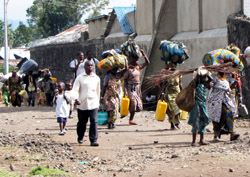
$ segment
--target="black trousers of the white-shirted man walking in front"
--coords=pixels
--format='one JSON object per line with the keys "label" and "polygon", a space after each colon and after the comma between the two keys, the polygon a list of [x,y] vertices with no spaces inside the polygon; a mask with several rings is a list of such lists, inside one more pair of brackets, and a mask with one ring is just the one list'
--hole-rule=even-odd
{"label": "black trousers of the white-shirted man walking in front", "polygon": [[78,123],[76,131],[78,135],[78,141],[82,140],[84,137],[89,118],[90,118],[89,140],[91,143],[97,141],[98,138],[97,112],[98,108],[92,110],[77,109]]}

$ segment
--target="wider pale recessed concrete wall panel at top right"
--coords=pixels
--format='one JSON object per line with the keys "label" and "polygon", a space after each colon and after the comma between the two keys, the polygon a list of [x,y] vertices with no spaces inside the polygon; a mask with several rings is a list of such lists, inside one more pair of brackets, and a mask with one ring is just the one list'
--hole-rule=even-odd
{"label": "wider pale recessed concrete wall panel at top right", "polygon": [[241,10],[241,0],[202,0],[203,29],[227,26],[227,17]]}

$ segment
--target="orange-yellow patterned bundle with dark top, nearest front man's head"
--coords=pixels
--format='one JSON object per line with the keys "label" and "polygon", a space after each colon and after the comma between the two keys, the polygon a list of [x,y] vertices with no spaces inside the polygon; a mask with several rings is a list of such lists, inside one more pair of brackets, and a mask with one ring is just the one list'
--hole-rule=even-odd
{"label": "orange-yellow patterned bundle with dark top, nearest front man's head", "polygon": [[105,51],[103,52],[103,56],[105,56],[106,58],[101,60],[97,65],[101,70],[109,71],[114,68],[125,68],[127,60],[126,56],[116,53],[115,50]]}

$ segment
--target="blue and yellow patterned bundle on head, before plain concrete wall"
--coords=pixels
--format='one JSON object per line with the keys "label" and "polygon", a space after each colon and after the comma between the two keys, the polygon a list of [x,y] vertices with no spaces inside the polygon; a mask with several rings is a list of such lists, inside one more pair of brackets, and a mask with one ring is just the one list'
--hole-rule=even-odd
{"label": "blue and yellow patterned bundle on head, before plain concrete wall", "polygon": [[189,58],[186,46],[178,41],[161,41],[161,60],[168,63],[183,63]]}

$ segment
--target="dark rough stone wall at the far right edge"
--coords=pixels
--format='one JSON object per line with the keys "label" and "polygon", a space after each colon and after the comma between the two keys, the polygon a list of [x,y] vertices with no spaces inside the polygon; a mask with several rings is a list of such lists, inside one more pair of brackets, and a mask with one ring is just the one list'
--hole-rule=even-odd
{"label": "dark rough stone wall at the far right edge", "polygon": [[[244,53],[246,47],[250,46],[250,20],[243,17],[231,15],[228,18],[228,42],[234,43]],[[242,77],[243,102],[250,110],[250,66],[244,62],[244,75]]]}

